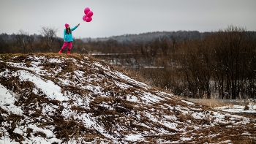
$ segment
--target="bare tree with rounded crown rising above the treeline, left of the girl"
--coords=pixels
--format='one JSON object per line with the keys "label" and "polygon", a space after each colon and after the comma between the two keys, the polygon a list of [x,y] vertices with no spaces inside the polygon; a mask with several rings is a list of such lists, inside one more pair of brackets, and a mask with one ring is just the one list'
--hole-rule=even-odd
{"label": "bare tree with rounded crown rising above the treeline, left of the girl", "polygon": [[45,27],[45,26],[42,26],[42,29],[41,29],[41,34],[42,36],[46,39],[47,41],[47,46],[48,46],[48,52],[51,52],[52,49],[51,49],[51,44],[53,42],[53,38],[54,37],[57,37],[56,36],[56,33],[57,31],[59,31],[58,29],[56,28],[50,28],[50,27]]}

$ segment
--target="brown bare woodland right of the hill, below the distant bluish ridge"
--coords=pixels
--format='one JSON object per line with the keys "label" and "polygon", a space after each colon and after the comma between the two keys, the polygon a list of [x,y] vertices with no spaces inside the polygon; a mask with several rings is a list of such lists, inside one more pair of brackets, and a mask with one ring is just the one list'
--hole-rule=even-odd
{"label": "brown bare woodland right of the hill, below the distant bluish ridge", "polygon": [[[97,58],[138,72],[151,85],[174,94],[192,98],[256,98],[255,31],[228,26],[204,33],[203,37],[192,31],[186,37],[165,35],[129,45],[118,45],[113,39],[104,43],[102,53],[108,55],[99,54]],[[103,45],[94,44],[94,48]],[[116,52],[119,55],[109,54]]]}

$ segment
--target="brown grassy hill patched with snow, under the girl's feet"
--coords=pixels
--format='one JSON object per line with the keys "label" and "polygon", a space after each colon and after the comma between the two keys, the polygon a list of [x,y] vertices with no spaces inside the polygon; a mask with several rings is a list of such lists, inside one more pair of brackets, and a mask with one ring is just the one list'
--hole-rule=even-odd
{"label": "brown grassy hill patched with snow, under the girl's feet", "polygon": [[0,55],[0,143],[255,143],[254,115],[187,102],[82,55]]}

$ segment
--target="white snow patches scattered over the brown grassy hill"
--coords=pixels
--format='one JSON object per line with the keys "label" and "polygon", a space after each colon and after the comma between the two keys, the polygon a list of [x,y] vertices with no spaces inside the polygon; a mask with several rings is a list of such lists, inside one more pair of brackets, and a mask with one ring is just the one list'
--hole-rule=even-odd
{"label": "white snow patches scattered over the brown grassy hill", "polygon": [[[50,99],[56,99],[60,102],[69,100],[68,98],[68,94],[62,94],[61,93],[61,87],[58,86],[57,83],[53,83],[53,81],[51,80],[45,80],[44,77],[42,77],[41,74],[39,74],[39,72],[42,72],[41,67],[37,67],[38,64],[40,63],[40,60],[42,60],[44,57],[36,57],[36,59],[38,61],[34,61],[31,63],[31,65],[33,65],[34,67],[29,67],[27,69],[33,71],[34,73],[28,72],[26,70],[18,70],[17,72],[12,72],[12,76],[18,76],[20,78],[21,81],[31,81],[35,84],[35,86],[37,87],[37,89],[39,89],[40,91],[42,91],[46,96],[48,96],[48,98]],[[54,63],[61,63],[61,61],[57,58],[51,58],[48,62],[54,62]],[[11,63],[8,62],[7,64],[10,64],[14,67],[20,67],[23,68],[25,67],[25,63],[20,62],[19,64],[17,63]],[[100,64],[99,62],[95,62],[94,63],[97,67],[102,67],[105,70],[109,70],[110,67],[104,67],[102,66],[102,64]],[[59,69],[61,70],[61,69]],[[8,70],[1,72],[0,75],[10,75],[10,72]],[[74,72],[75,75],[79,76],[79,77],[83,77],[84,72],[82,71],[75,71]],[[133,83],[136,86],[141,86],[144,88],[151,88],[151,86],[147,86],[145,83],[141,83],[138,82],[136,80],[133,80],[130,77],[127,77],[126,75],[121,74],[121,72],[109,72],[108,75],[111,75],[112,77],[115,78],[122,78],[124,80],[127,80],[127,82],[129,83]],[[95,77],[97,77],[97,75],[95,75]],[[60,83],[64,84],[64,85],[68,85],[69,83],[72,83],[68,80],[63,80],[63,79],[59,79]],[[90,80],[90,79],[87,79]],[[93,80],[93,79],[91,79]],[[116,82],[117,86],[123,88],[123,89],[127,89],[130,86],[126,85],[124,83],[119,83]],[[98,94],[99,96],[106,96],[107,94],[103,93],[101,91],[101,87],[100,86],[81,86],[80,88],[84,88],[86,90],[89,91],[93,91],[94,94]],[[34,90],[35,93],[37,93],[38,91],[35,89]],[[155,94],[151,94],[150,92],[143,92],[140,93],[140,99],[138,99],[137,96],[134,96],[132,94],[127,94],[127,101],[129,102],[140,102],[141,100],[144,102],[144,104],[148,105],[148,104],[154,104],[157,103],[159,101],[165,101],[165,99],[163,99],[160,95],[162,94],[167,94],[165,92],[159,92],[159,95],[155,95]],[[171,95],[171,94],[168,94]],[[73,95],[74,97],[77,95]],[[4,110],[8,110],[12,113],[21,115],[23,113],[22,110],[20,110],[20,107],[15,106],[14,103],[15,101],[17,101],[18,98],[15,96],[14,93],[12,93],[12,91],[7,90],[7,88],[5,88],[4,86],[0,85],[0,107],[3,108]],[[181,100],[181,102],[185,102],[188,105],[194,105],[194,103],[192,102],[187,102],[185,100]],[[83,99],[80,99],[79,97],[77,98],[77,105],[83,105],[84,107],[87,107],[89,105],[89,99],[84,97]],[[64,114],[67,118],[69,118],[69,116],[71,116],[73,113],[70,110],[70,106],[68,105],[68,103],[64,103],[63,106],[65,107],[62,114]],[[108,110],[113,110],[113,107],[110,107],[110,105],[107,105],[105,103],[101,104],[102,107],[107,107]],[[88,107],[87,107],[88,108]],[[165,107],[163,108],[169,108],[170,110],[173,110],[173,107],[165,105]],[[180,105],[177,105],[176,110],[180,110],[182,114],[187,114],[188,112],[188,108],[187,107],[181,107]],[[217,110],[222,110],[224,112],[229,112],[229,113],[256,113],[256,105],[254,105],[252,107],[252,109],[249,110],[244,110],[244,106],[239,106],[239,105],[233,105],[232,107],[230,106],[225,106],[225,107],[216,107]],[[51,111],[54,111],[54,107],[50,107],[48,105],[45,105],[44,108],[42,109],[43,113],[48,113]],[[152,110],[154,111],[154,109]],[[156,112],[157,113],[157,112]],[[214,120],[216,123],[219,121],[222,121],[223,118],[225,118],[225,116],[227,114],[221,114],[218,112],[212,112],[212,115],[216,116],[216,119]],[[231,117],[232,114],[230,114]],[[162,115],[162,118],[157,118],[154,117],[154,115],[152,115],[151,113],[144,113],[144,116],[148,117],[151,119],[151,121],[154,121],[154,123],[159,123],[162,124],[163,126],[166,126],[170,129],[175,129],[178,130],[178,124],[174,123],[173,121],[176,121],[177,118],[175,115]],[[206,116],[208,116],[208,114],[206,113],[192,113],[192,116],[194,118],[205,118]],[[83,120],[83,124],[84,126],[88,126],[91,127],[93,129],[97,129],[98,132],[100,132],[102,135],[104,135],[105,137],[108,137],[110,139],[116,140],[115,137],[113,137],[113,135],[110,135],[108,133],[105,132],[105,129],[102,126],[99,126],[99,124],[96,124],[95,120],[93,118],[91,118],[91,115],[87,114],[87,113],[83,113],[80,115],[81,120]],[[141,115],[137,115],[137,118],[140,119]],[[232,115],[232,117],[230,118],[231,123],[235,123],[236,119],[241,119],[241,116],[238,115]],[[237,124],[239,123],[243,123],[246,124],[248,122],[248,120],[246,118],[242,118],[243,120],[241,122],[237,122]],[[225,121],[223,121],[225,122]],[[5,124],[5,123],[2,123]],[[150,129],[150,126],[146,125],[146,124],[140,124],[141,126],[145,126],[146,128]],[[39,126],[37,126],[36,124],[29,124],[29,126],[27,126],[26,128],[24,127],[16,127],[15,131],[18,134],[23,134],[24,131],[26,131],[26,129],[31,128],[34,130],[34,132],[43,132],[46,134],[46,136],[48,137],[48,139],[42,138],[42,137],[32,137],[31,140],[29,139],[25,139],[23,141],[23,143],[46,143],[46,144],[50,144],[50,143],[61,143],[61,140],[56,139],[55,134],[53,134],[52,129],[42,129]],[[1,131],[2,129],[0,129]],[[167,130],[165,129],[161,129],[159,131],[162,132],[166,132]],[[152,132],[154,132],[154,129],[152,129]],[[144,136],[143,134],[128,134],[126,137],[124,137],[125,140],[129,140],[131,142],[137,142],[137,141],[142,141],[144,140]],[[193,137],[181,137],[181,140],[186,141],[186,140],[192,140]],[[180,142],[180,141],[179,141]],[[17,143],[15,141],[12,141],[9,137],[5,137],[4,135],[2,135],[0,137],[0,144],[9,144],[9,143]],[[71,140],[69,141],[69,143],[77,143],[75,140]],[[170,143],[176,143],[176,142],[170,142]],[[178,142],[177,142],[178,143]],[[222,143],[230,143],[230,140],[225,140],[222,141]]]}

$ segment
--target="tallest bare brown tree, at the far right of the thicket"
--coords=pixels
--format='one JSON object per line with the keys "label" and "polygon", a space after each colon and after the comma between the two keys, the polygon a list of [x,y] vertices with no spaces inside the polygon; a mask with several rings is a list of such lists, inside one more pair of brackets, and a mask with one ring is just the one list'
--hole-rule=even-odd
{"label": "tallest bare brown tree, at the far right of the thicket", "polygon": [[252,67],[253,49],[252,37],[245,29],[229,26],[225,31],[219,31],[215,36],[214,60],[217,61],[217,77],[221,96],[226,99],[240,99],[244,97],[246,83],[249,83],[248,68]]}

